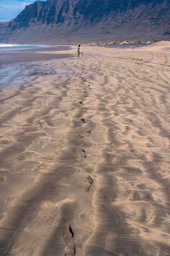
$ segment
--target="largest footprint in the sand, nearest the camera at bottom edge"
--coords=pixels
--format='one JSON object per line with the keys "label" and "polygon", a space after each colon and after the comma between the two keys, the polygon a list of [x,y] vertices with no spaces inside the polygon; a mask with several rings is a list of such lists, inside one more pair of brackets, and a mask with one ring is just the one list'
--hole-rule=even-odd
{"label": "largest footprint in the sand, nearest the camera at bottom edge", "polygon": [[75,255],[75,245],[73,243],[73,231],[71,225],[67,223],[66,229],[62,232],[62,238],[66,247],[64,248],[65,256]]}

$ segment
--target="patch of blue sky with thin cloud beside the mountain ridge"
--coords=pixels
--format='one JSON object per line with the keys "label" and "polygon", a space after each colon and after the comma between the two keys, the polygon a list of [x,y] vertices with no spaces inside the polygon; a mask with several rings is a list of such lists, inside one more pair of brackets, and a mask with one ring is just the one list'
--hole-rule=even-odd
{"label": "patch of blue sky with thin cloud beside the mountain ridge", "polygon": [[0,0],[0,21],[12,20],[26,5],[33,2],[35,2],[35,0]]}

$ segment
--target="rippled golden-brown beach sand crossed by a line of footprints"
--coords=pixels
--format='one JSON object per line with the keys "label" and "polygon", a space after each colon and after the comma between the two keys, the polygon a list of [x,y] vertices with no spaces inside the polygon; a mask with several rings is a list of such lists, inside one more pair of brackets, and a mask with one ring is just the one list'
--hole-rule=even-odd
{"label": "rippled golden-brown beach sand crossed by a line of footprints", "polygon": [[1,256],[170,255],[170,53],[155,47],[82,46],[1,90]]}

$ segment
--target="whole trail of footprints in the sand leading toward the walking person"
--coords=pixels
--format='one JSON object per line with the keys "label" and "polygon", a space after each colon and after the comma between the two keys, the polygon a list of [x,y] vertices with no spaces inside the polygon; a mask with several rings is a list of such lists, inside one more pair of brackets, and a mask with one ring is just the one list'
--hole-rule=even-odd
{"label": "whole trail of footprints in the sand leading toward the walking person", "polygon": [[[84,70],[84,68],[83,68]],[[79,76],[81,78],[81,76]],[[86,82],[86,80],[84,78],[82,78],[84,82]],[[88,83],[91,83],[91,82],[88,82]],[[92,89],[90,87],[91,85],[88,84],[88,89]],[[80,90],[80,92],[82,92]],[[84,91],[84,97],[86,98],[87,97],[87,94],[86,92]],[[83,102],[82,101],[79,101],[79,104],[83,105]],[[87,111],[87,108],[84,109],[85,111]],[[79,113],[82,113],[82,111],[79,111]],[[80,118],[79,121],[84,124],[85,123],[85,120],[84,118]],[[91,131],[88,130],[86,131],[86,135],[82,136],[82,135],[79,135],[80,138],[83,138],[83,137],[87,137],[87,136],[90,136],[91,135]],[[79,154],[80,154],[80,157],[81,158],[86,158],[86,154],[85,154],[85,150],[83,148],[81,148],[79,150]],[[93,179],[91,178],[90,175],[88,175],[86,177],[86,179],[84,180],[85,184],[84,184],[84,191],[85,192],[88,192],[91,188],[91,185],[93,184]],[[65,256],[73,256],[75,255],[75,243],[74,243],[74,240],[73,240],[73,231],[72,231],[72,228],[71,228],[71,225],[69,223],[67,223],[66,225],[66,229],[62,232],[62,238],[64,240],[64,243],[66,245],[66,247],[64,248],[64,255]]]}

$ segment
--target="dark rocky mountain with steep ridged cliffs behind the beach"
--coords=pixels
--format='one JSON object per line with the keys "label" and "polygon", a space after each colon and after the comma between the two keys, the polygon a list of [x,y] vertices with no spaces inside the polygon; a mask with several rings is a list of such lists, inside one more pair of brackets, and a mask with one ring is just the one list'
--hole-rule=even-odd
{"label": "dark rocky mountain with steep ridged cliffs behind the beach", "polygon": [[2,43],[152,39],[170,29],[170,0],[47,0],[0,22]]}

